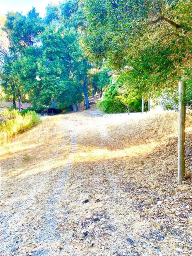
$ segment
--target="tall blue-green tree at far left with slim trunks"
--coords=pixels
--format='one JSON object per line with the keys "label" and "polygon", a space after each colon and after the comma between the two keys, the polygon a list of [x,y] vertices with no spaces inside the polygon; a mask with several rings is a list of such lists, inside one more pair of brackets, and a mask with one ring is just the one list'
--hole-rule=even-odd
{"label": "tall blue-green tree at far left with slim trunks", "polygon": [[[2,86],[7,93],[12,95],[13,104],[16,106],[16,98],[21,109],[22,96],[24,92],[24,79],[20,69],[25,62],[25,50],[28,46],[33,46],[36,37],[44,29],[42,19],[32,8],[27,16],[20,13],[8,12],[3,31],[9,40],[8,51],[4,54],[2,66]],[[21,69],[24,71],[24,69]],[[24,75],[25,76],[25,75]]]}

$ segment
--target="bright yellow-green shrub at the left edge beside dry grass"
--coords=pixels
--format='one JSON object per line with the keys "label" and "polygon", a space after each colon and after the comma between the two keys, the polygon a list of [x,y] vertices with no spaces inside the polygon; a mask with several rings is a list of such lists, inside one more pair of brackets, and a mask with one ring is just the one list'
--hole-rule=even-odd
{"label": "bright yellow-green shrub at the left edge beside dry grass", "polygon": [[28,111],[22,115],[18,110],[5,109],[0,116],[7,119],[0,124],[1,144],[10,141],[16,134],[29,130],[41,122],[40,116],[34,111]]}

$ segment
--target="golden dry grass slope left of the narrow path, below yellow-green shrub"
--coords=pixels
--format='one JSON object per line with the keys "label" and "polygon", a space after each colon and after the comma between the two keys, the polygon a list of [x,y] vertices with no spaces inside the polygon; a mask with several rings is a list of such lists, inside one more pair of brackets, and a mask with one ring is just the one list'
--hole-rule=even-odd
{"label": "golden dry grass slope left of the narrow path, below yellow-green shrub", "polygon": [[36,174],[46,175],[63,165],[71,147],[70,132],[63,119],[63,116],[43,117],[41,124],[1,147],[0,167],[2,181],[7,183],[6,194],[9,189],[18,189],[25,178],[28,182]]}

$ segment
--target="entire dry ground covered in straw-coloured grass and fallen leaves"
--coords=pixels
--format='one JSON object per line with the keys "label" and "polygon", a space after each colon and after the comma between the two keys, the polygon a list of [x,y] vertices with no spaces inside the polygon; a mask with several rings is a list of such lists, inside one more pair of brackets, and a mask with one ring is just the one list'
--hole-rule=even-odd
{"label": "entire dry ground covered in straw-coloured grass and fallen leaves", "polygon": [[[44,117],[2,147],[0,256],[192,255],[177,116]],[[191,173],[192,122],[187,122]]]}

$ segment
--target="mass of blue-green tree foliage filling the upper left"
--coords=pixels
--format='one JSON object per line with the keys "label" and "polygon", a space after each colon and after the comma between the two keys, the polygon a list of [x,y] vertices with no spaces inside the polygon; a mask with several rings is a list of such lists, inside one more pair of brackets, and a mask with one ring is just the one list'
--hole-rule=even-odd
{"label": "mass of blue-green tree foliage filling the upper left", "polygon": [[[2,86],[13,100],[28,97],[40,110],[47,106],[68,108],[86,99],[88,70],[81,36],[85,14],[79,0],[49,4],[42,20],[33,8],[27,16],[9,12],[4,31],[9,40],[4,56]],[[102,85],[100,84],[100,90]]]}

